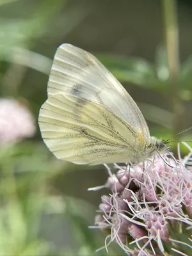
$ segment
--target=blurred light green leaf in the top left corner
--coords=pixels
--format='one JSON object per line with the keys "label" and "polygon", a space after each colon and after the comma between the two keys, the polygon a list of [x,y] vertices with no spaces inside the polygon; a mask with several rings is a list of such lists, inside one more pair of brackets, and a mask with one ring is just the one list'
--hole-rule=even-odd
{"label": "blurred light green leaf in the top left corner", "polygon": [[[42,37],[48,30],[52,17],[63,5],[62,0],[39,1],[28,19],[0,19],[0,59],[10,60],[15,47],[27,48],[34,39]],[[0,5],[1,6],[1,5]]]}

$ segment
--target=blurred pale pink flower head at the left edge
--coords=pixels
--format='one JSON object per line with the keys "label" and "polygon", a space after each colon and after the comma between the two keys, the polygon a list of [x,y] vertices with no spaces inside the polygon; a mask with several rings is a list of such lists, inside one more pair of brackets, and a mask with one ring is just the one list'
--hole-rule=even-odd
{"label": "blurred pale pink flower head at the left edge", "polygon": [[35,134],[35,120],[26,106],[0,98],[0,145],[15,143]]}

